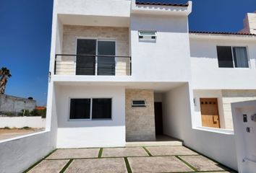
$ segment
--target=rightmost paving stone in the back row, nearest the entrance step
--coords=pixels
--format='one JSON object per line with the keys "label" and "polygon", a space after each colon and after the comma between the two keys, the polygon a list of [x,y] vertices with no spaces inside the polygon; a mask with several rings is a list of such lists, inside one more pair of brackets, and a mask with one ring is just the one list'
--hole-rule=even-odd
{"label": "rightmost paving stone in the back row, nearest the entrance step", "polygon": [[197,153],[184,146],[151,146],[146,148],[153,156],[197,155]]}

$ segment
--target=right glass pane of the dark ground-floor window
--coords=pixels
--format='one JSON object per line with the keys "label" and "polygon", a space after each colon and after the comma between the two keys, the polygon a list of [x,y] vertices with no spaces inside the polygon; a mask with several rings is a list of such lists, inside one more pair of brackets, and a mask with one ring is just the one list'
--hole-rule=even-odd
{"label": "right glass pane of the dark ground-floor window", "polygon": [[112,99],[93,99],[93,119],[111,118]]}

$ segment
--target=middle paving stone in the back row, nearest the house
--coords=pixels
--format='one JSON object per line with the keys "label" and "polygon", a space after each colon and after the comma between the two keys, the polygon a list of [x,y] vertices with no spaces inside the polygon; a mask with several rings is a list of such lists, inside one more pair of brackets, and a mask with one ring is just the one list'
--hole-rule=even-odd
{"label": "middle paving stone in the back row, nearest the house", "polygon": [[148,156],[142,147],[103,148],[102,157]]}

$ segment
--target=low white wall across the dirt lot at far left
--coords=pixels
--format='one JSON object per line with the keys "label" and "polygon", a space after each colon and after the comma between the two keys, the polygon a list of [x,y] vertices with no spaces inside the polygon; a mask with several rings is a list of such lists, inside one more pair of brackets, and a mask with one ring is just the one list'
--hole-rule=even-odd
{"label": "low white wall across the dirt lot at far left", "polygon": [[42,117],[0,117],[0,128],[45,128],[46,119]]}

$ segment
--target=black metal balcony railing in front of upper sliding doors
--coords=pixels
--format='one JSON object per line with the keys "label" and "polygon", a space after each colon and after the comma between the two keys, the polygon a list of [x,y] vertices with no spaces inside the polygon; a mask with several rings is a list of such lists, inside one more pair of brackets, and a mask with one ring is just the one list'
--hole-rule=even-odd
{"label": "black metal balcony railing in front of upper sliding doors", "polygon": [[95,56],[56,54],[56,75],[131,76],[130,56]]}

